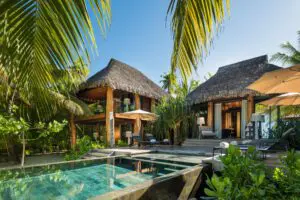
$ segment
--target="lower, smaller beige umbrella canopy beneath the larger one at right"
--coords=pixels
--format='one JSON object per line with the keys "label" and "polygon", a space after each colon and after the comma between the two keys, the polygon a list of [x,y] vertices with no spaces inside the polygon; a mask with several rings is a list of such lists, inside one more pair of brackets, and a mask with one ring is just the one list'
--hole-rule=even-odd
{"label": "lower, smaller beige umbrella canopy beneath the larger one at right", "polygon": [[296,106],[300,105],[300,93],[287,93],[272,99],[262,101],[259,104],[266,106]]}

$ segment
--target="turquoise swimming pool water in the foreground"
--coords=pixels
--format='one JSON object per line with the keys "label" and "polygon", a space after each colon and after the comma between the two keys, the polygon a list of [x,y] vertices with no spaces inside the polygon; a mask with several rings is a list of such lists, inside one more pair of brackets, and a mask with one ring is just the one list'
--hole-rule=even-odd
{"label": "turquoise swimming pool water in the foreground", "polygon": [[115,157],[0,171],[0,199],[88,199],[190,165]]}

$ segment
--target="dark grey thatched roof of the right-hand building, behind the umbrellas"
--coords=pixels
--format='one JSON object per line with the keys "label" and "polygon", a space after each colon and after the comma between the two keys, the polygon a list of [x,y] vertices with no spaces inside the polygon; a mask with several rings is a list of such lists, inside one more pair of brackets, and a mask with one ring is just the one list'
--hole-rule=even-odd
{"label": "dark grey thatched roof of the right-hand building, behind the umbrellas", "polygon": [[192,104],[261,95],[247,86],[264,73],[280,67],[269,64],[267,55],[220,67],[217,73],[187,96]]}

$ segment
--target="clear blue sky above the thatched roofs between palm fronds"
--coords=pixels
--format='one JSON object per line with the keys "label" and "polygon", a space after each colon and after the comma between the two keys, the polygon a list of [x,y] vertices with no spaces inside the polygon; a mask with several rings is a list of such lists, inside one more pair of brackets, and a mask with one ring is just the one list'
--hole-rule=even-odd
{"label": "clear blue sky above the thatched roofs between palm fronds", "polygon": [[[105,38],[95,29],[98,56],[92,58],[90,75],[115,58],[160,84],[161,74],[170,69],[173,48],[166,22],[169,0],[111,2],[112,22]],[[204,81],[221,66],[265,54],[270,58],[286,41],[298,47],[299,8],[300,0],[231,0],[230,15],[193,78]]]}

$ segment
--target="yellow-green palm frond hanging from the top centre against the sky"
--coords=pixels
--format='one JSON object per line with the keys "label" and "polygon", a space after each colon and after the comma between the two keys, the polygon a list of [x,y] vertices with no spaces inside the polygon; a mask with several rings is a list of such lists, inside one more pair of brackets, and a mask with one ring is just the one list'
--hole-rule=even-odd
{"label": "yellow-green palm frond hanging from the top centre against the sky", "polygon": [[[226,5],[227,8],[224,8]],[[171,72],[179,69],[186,82],[207,54],[211,41],[229,11],[229,0],[171,0],[173,53]]]}

